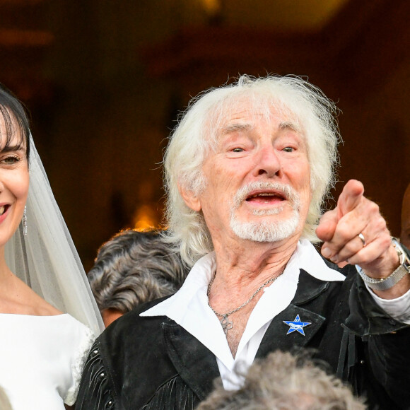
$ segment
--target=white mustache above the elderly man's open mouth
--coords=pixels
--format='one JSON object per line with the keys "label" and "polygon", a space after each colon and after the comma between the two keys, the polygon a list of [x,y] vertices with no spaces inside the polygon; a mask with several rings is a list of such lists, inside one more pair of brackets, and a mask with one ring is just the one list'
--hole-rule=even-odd
{"label": "white mustache above the elderly man's open mouth", "polygon": [[238,189],[236,192],[235,197],[233,199],[233,207],[234,209],[238,209],[240,204],[242,204],[245,199],[249,196],[252,191],[258,190],[273,190],[274,192],[278,192],[281,194],[285,199],[287,199],[290,203],[292,208],[295,211],[298,211],[300,208],[300,199],[298,192],[293,189],[290,185],[281,184],[280,182],[268,182],[268,181],[256,181],[251,182],[244,187]]}

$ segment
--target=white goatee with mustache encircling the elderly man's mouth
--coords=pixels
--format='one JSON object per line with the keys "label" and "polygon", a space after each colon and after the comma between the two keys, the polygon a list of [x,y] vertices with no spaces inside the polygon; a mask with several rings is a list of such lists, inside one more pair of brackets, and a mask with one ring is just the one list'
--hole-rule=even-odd
{"label": "white goatee with mustache encircling the elderly man's mouth", "polygon": [[[279,221],[261,221],[242,222],[238,221],[235,215],[236,209],[247,198],[248,194],[257,189],[274,189],[282,192],[286,199],[291,203],[293,212],[289,218]],[[252,240],[254,242],[277,242],[289,238],[298,228],[300,215],[300,200],[299,195],[295,190],[288,185],[279,184],[278,182],[253,182],[246,187],[238,190],[233,201],[233,208],[230,211],[230,228],[235,235],[241,239]],[[272,209],[255,209],[254,215],[268,216],[283,212],[283,207]]]}

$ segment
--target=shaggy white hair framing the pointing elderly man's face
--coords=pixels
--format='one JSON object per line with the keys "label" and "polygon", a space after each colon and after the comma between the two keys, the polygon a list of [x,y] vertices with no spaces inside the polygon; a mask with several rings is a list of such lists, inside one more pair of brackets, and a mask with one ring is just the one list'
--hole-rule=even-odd
{"label": "shaggy white hair framing the pointing elderly man's face", "polygon": [[203,213],[187,206],[181,191],[199,194],[206,187],[204,161],[216,149],[225,117],[242,106],[248,114],[266,119],[272,112],[283,115],[304,136],[312,201],[302,238],[317,241],[315,228],[324,198],[334,185],[338,160],[336,107],[319,88],[296,76],[241,76],[236,83],[205,91],[192,100],[165,154],[168,240],[189,266],[211,252],[213,244]]}

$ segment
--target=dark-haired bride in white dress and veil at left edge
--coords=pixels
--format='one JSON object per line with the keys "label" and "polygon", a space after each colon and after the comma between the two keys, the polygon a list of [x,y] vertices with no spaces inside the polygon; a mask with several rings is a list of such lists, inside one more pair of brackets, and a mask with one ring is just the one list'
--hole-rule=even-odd
{"label": "dark-haired bride in white dress and veil at left edge", "polygon": [[0,85],[0,386],[12,409],[70,408],[101,330],[25,111]]}

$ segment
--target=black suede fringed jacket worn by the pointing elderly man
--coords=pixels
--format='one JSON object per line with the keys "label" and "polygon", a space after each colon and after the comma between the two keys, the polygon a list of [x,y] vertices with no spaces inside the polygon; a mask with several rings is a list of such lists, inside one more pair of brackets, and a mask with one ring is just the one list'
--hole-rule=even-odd
{"label": "black suede fringed jacket worn by the pointing elderly man", "polygon": [[[295,297],[272,320],[257,358],[313,348],[367,397],[370,410],[410,409],[410,327],[378,307],[353,266],[341,272],[345,281],[327,282],[300,270]],[[141,305],[100,335],[76,410],[191,410],[211,392],[219,377],[213,353],[168,317],[139,316],[159,302]],[[282,321],[298,314],[312,323],[309,334],[286,335]]]}

